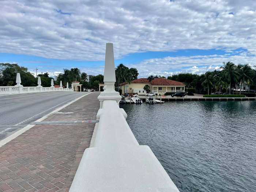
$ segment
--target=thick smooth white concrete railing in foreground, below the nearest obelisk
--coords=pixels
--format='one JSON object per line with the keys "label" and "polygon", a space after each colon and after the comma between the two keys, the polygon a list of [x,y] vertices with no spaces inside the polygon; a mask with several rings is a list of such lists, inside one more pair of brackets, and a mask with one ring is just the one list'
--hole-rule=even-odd
{"label": "thick smooth white concrete railing in foreground, below the nearest obelisk", "polygon": [[178,192],[148,146],[140,146],[116,101],[99,109],[94,146],[84,151],[69,192]]}

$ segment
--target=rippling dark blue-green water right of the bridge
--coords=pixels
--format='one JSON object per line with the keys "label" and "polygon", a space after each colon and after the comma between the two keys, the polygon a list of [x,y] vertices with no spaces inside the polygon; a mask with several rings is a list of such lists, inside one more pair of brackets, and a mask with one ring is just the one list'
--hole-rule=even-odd
{"label": "rippling dark blue-green water right of the bridge", "polygon": [[256,101],[120,105],[181,192],[256,191]]}

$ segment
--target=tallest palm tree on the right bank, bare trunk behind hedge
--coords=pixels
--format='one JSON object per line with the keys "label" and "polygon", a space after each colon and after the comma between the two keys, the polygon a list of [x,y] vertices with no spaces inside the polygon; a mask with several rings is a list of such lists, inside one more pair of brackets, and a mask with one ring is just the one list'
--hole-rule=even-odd
{"label": "tallest palm tree on the right bank, bare trunk behind hedge", "polygon": [[224,69],[224,74],[226,79],[229,82],[229,94],[231,94],[231,83],[237,82],[237,78],[238,78],[238,72],[236,71],[236,65],[232,62],[223,62],[224,67],[220,67],[221,69]]}

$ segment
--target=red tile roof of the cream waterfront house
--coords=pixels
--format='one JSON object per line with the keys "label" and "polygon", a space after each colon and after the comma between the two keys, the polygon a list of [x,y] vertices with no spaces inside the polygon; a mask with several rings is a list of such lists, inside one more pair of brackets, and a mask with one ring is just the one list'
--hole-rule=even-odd
{"label": "red tile roof of the cream waterfront house", "polygon": [[[155,78],[151,82],[149,82],[147,78],[140,78],[140,79],[136,79],[136,80],[131,81],[131,83],[150,83],[151,85],[185,86],[184,83],[174,81],[174,80],[165,79],[165,78]],[[124,85],[124,84],[127,84],[127,83],[121,83],[121,85]]]}

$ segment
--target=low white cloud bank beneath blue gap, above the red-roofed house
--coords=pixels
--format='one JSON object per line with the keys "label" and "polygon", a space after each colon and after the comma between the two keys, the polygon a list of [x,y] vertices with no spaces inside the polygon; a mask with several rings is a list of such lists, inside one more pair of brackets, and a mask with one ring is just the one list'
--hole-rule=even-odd
{"label": "low white cloud bank beneath blue gap, above the red-roofed house", "polygon": [[[181,72],[202,74],[206,71],[219,70],[223,62],[249,64],[253,67],[256,56],[248,57],[245,52],[238,55],[209,55],[209,56],[178,56],[143,60],[138,64],[127,64],[127,67],[137,68],[139,77],[149,75],[169,76]],[[154,71],[152,73],[152,71]]]}

